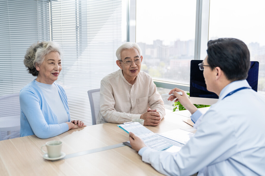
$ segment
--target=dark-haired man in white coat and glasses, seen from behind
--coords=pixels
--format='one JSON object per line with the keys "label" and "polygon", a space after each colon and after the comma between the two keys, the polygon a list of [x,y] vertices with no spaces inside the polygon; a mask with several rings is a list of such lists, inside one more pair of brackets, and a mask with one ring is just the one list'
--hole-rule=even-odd
{"label": "dark-haired man in white coat and glasses, seen from behind", "polygon": [[130,133],[133,149],[139,151],[143,161],[166,175],[192,175],[198,171],[198,175],[264,175],[265,99],[245,80],[250,68],[247,46],[238,39],[211,40],[199,67],[207,90],[219,96],[218,102],[201,115],[180,89],[171,90],[174,96],[168,99],[178,98],[197,116],[194,121],[200,117],[196,134],[178,153],[169,153],[145,147],[139,137]]}

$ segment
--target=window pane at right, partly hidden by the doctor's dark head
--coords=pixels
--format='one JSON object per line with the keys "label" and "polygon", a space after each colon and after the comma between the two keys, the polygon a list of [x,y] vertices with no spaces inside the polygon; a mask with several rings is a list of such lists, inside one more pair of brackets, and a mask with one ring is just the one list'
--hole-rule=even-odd
{"label": "window pane at right, partly hidden by the doctor's dark head", "polygon": [[265,2],[259,0],[212,0],[209,14],[209,40],[221,37],[240,39],[249,48],[250,60],[259,61],[260,93],[265,91],[264,6]]}

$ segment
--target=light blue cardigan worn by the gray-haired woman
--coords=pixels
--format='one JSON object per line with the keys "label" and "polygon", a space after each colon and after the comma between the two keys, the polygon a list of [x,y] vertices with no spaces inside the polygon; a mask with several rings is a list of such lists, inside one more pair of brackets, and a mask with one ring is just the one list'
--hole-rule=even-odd
{"label": "light blue cardigan worn by the gray-haired woman", "polygon": [[[63,87],[55,83],[70,122],[67,96]],[[35,79],[23,87],[19,93],[20,101],[20,137],[36,135],[46,139],[69,130],[67,123],[58,124],[58,119],[47,103]]]}

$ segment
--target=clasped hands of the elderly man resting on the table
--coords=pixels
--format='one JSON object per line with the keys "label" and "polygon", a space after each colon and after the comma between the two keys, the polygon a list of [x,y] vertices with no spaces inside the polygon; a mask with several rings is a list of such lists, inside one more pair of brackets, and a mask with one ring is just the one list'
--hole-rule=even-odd
{"label": "clasped hands of the elderly man resting on the table", "polygon": [[157,126],[161,121],[159,112],[151,110],[150,108],[148,108],[147,112],[143,113],[140,118],[144,119],[144,125],[149,126]]}

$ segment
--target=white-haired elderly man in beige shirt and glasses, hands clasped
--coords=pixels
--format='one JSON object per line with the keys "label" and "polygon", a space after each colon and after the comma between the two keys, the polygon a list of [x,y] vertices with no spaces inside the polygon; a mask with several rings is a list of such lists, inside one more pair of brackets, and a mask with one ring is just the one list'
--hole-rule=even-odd
{"label": "white-haired elderly man in beige shirt and glasses, hands clasped", "polygon": [[165,116],[165,106],[150,75],[140,71],[143,61],[140,47],[126,42],[117,49],[116,56],[120,70],[101,80],[97,124],[142,118],[144,125],[158,125]]}

